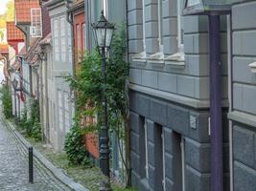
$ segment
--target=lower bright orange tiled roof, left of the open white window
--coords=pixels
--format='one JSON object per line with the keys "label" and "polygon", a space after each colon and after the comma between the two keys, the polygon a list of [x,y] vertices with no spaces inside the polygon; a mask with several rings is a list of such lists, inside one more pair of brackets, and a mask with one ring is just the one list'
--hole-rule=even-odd
{"label": "lower bright orange tiled roof, left of the open white window", "polygon": [[7,22],[7,41],[24,41],[24,33],[21,32],[14,22]]}

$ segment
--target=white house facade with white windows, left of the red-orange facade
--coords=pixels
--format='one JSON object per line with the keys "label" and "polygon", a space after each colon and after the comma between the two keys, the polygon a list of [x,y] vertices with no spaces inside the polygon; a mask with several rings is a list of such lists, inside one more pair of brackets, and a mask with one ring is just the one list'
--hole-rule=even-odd
{"label": "white house facade with white windows, left of the red-orange facade", "polygon": [[48,68],[50,142],[61,151],[74,115],[72,93],[65,80],[65,76],[73,75],[71,25],[66,19],[67,7],[64,1],[51,0],[44,6],[50,15],[53,43]]}

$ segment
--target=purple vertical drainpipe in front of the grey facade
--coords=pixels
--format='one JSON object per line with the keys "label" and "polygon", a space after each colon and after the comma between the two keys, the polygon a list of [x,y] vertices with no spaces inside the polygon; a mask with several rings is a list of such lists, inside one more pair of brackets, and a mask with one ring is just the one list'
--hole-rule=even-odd
{"label": "purple vertical drainpipe in front of the grey facade", "polygon": [[220,15],[209,15],[211,191],[223,190]]}

